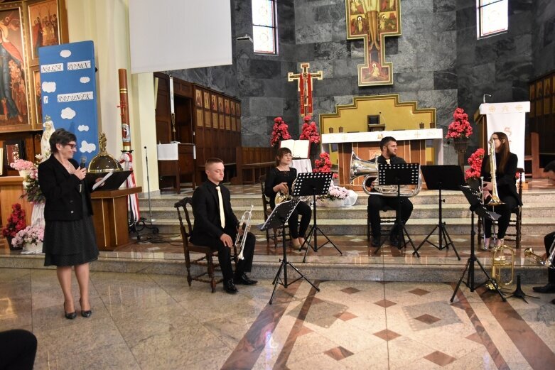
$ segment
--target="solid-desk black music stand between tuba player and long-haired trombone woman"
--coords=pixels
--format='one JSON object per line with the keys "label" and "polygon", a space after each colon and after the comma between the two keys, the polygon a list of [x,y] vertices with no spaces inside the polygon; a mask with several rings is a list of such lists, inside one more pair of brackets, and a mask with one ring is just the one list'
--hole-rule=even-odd
{"label": "solid-desk black music stand between tuba player and long-haired trombone woman", "polygon": [[[449,249],[449,246],[453,246],[453,251],[455,251],[457,258],[460,261],[460,256],[457,253],[455,244],[453,244],[453,240],[447,232],[446,223],[443,222],[442,203],[445,202],[445,200],[441,197],[441,190],[460,190],[460,186],[465,185],[463,170],[460,169],[459,165],[423,165],[420,169],[422,170],[424,180],[426,180],[426,187],[428,187],[428,190],[439,190],[439,222],[435,227],[433,227],[430,234],[424,238],[418,248],[416,248],[416,251],[418,251],[426,242],[436,247],[439,251]],[[438,245],[429,241],[429,237],[436,231],[436,229],[438,229]],[[443,245],[443,241],[445,241],[445,245]]]}

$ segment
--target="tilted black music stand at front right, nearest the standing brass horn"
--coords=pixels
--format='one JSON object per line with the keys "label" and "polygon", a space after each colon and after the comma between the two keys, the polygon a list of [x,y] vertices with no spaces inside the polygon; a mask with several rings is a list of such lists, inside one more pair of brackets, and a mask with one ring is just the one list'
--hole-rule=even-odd
{"label": "tilted black music stand at front right, nearest the standing brass horn", "polygon": [[[468,203],[470,203],[470,212],[472,212],[472,217],[470,221],[470,229],[471,229],[470,257],[466,262],[466,266],[463,271],[463,274],[460,276],[460,279],[458,279],[457,286],[455,288],[455,291],[453,292],[453,296],[451,297],[451,302],[453,302],[453,300],[455,299],[455,295],[457,294],[457,290],[460,287],[460,283],[465,283],[465,285],[468,286],[468,288],[470,288],[470,291],[473,292],[476,288],[480,288],[480,286],[488,282],[491,283],[491,285],[495,288],[495,290],[497,290],[497,293],[499,294],[501,299],[505,302],[507,300],[505,298],[505,295],[501,293],[501,290],[499,290],[499,288],[497,287],[497,283],[487,274],[487,271],[485,271],[485,268],[484,266],[482,266],[482,263],[480,263],[480,261],[476,258],[475,250],[474,250],[474,236],[476,235],[476,232],[474,230],[474,214],[478,214],[478,216],[482,217],[483,219],[487,218],[487,219],[490,219],[491,221],[495,221],[499,219],[500,214],[490,212],[484,207],[481,196],[480,194],[478,194],[478,191],[473,190],[468,186],[461,186],[460,190],[463,190],[463,194],[465,195],[466,200],[468,200]],[[480,266],[480,269],[482,270],[485,277],[487,278],[486,281],[478,285],[475,285],[474,263],[478,263],[478,266]],[[466,274],[468,274],[466,281],[463,281],[463,278],[465,277]]]}

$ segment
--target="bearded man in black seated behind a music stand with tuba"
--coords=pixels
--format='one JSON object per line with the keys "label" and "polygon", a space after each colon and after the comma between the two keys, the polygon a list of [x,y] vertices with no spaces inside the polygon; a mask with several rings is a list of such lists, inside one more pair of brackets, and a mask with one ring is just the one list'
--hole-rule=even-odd
{"label": "bearded man in black seated behind a music stand with tuba", "polygon": [[[382,154],[376,158],[378,164],[401,164],[406,163],[401,157],[397,157],[397,141],[392,136],[386,136],[379,141],[379,148]],[[366,184],[363,184],[365,186]],[[372,192],[376,192],[372,190]],[[379,247],[382,245],[382,232],[381,232],[381,218],[379,217],[379,211],[384,210],[385,207],[390,207],[393,210],[397,210],[399,202],[401,203],[401,217],[400,222],[403,224],[411,217],[412,213],[412,202],[408,197],[385,197],[378,195],[372,195],[368,197],[368,219],[370,220],[370,227],[372,229],[372,246]],[[397,193],[395,193],[397,195]],[[397,220],[399,221],[399,220]],[[398,248],[402,246],[402,240],[399,238],[400,230],[396,224],[389,234],[389,240],[393,246]]]}

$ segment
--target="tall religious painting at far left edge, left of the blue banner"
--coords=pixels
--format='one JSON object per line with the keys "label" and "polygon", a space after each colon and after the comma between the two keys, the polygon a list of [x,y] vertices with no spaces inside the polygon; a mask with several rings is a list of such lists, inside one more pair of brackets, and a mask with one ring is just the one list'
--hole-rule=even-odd
{"label": "tall religious painting at far left edge, left of the blue banner", "polygon": [[0,6],[0,19],[0,129],[6,131],[29,124],[27,77],[21,8]]}

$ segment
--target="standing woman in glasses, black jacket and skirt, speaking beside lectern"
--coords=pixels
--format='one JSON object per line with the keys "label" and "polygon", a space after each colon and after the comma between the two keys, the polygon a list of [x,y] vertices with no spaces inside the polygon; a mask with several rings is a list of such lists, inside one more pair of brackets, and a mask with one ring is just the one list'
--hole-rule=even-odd
{"label": "standing woman in glasses, black jacket and skirt, speaking beside lectern", "polygon": [[[46,202],[44,206],[44,266],[57,266],[56,273],[64,295],[65,318],[77,316],[71,295],[71,268],[79,283],[82,317],[90,317],[89,263],[98,259],[92,205],[87,183],[87,169],[73,159],[77,138],[64,129],[50,136],[52,155],[38,166],[38,183]],[[86,159],[85,159],[86,161]],[[100,180],[100,179],[98,179]]]}

